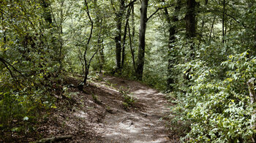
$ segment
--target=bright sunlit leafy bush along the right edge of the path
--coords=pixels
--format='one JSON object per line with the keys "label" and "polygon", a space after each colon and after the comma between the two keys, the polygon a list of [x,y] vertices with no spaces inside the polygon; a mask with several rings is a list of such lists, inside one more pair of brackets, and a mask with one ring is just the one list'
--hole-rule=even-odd
{"label": "bright sunlit leafy bush along the right edge of the path", "polygon": [[[246,51],[229,55],[220,66],[190,62],[191,85],[178,106],[181,119],[192,122],[184,142],[250,142],[255,131],[250,127],[253,105],[249,102],[246,82],[256,77],[256,57]],[[221,69],[225,77],[216,78]],[[174,109],[174,111],[178,111]]]}

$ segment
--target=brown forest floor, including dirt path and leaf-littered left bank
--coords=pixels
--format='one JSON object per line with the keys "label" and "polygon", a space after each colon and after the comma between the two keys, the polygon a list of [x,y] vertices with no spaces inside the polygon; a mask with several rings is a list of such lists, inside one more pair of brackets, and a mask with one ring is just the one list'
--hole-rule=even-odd
{"label": "brown forest floor, including dirt path and leaf-littered left bank", "polygon": [[[75,88],[79,81],[78,77],[67,77],[57,108],[39,120],[33,134],[12,134],[12,139],[34,142],[71,135],[61,142],[179,142],[178,134],[167,128],[171,104],[164,94],[121,77],[99,75],[89,80],[83,91]],[[125,105],[124,93],[135,103]]]}

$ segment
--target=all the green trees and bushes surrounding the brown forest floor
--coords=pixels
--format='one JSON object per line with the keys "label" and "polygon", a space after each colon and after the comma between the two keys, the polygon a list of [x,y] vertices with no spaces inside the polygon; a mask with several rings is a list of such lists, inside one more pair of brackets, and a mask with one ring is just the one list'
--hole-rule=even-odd
{"label": "all the green trees and bushes surrounding the brown forest floor", "polygon": [[97,71],[168,93],[184,142],[254,142],[255,0],[1,0],[0,15],[1,131]]}

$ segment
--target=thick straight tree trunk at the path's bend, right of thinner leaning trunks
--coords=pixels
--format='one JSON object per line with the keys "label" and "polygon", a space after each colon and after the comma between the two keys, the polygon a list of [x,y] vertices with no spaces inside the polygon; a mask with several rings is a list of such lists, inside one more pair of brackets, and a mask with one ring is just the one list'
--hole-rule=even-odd
{"label": "thick straight tree trunk at the path's bend, right of thinner leaning trunks", "polygon": [[146,23],[147,23],[147,9],[148,0],[142,0],[140,8],[140,34],[139,34],[139,47],[138,47],[138,61],[136,68],[136,78],[142,80],[143,77],[143,66],[145,58],[145,34],[146,34]]}

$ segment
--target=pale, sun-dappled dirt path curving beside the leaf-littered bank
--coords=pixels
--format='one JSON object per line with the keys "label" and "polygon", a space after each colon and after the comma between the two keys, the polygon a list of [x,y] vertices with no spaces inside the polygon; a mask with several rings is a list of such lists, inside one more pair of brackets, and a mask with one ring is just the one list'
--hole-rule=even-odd
{"label": "pale, sun-dappled dirt path curving beside the leaf-littered bank", "polygon": [[[175,142],[168,137],[165,120],[162,120],[170,112],[167,99],[162,93],[139,82],[118,77],[103,77],[103,81],[110,82],[116,89],[127,88],[143,107],[128,112],[119,106],[110,106],[113,112],[106,114],[104,127],[100,129],[103,142]],[[118,92],[111,90],[113,93]]]}

